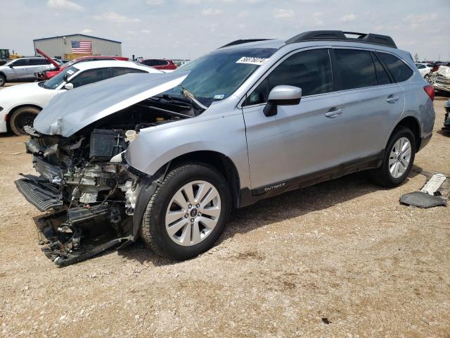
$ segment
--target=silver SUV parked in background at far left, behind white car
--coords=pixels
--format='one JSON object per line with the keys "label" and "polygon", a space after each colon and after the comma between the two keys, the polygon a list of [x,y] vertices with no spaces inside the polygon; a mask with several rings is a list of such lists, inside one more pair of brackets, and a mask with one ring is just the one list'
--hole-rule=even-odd
{"label": "silver SUV parked in background at far left, behind white car", "polygon": [[[56,62],[53,61],[53,63]],[[46,58],[16,58],[0,66],[0,87],[6,82],[34,80],[34,73],[55,68],[56,66]]]}

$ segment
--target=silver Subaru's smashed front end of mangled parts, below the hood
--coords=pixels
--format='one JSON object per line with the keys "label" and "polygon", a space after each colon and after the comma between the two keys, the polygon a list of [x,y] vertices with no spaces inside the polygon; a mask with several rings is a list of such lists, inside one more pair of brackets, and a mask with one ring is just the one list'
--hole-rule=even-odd
{"label": "silver Subaru's smashed front end of mangled parts, below the hood", "polygon": [[124,165],[110,162],[127,147],[123,130],[32,136],[26,146],[38,175],[22,175],[15,184],[39,211],[50,211],[34,218],[47,257],[68,265],[129,238],[132,206],[125,195],[132,180]]}

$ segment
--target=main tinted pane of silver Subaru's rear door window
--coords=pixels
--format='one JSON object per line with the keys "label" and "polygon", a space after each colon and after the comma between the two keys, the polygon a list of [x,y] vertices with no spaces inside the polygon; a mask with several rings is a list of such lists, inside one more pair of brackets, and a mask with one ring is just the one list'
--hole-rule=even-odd
{"label": "main tinted pane of silver Subaru's rear door window", "polygon": [[370,51],[335,49],[335,56],[343,90],[378,84]]}

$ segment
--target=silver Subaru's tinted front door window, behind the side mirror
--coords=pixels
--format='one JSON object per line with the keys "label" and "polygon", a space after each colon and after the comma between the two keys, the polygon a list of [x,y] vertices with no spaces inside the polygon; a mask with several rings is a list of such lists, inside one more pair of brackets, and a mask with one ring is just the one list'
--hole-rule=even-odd
{"label": "silver Subaru's tinted front door window, behind the side mirror", "polygon": [[278,85],[300,87],[302,96],[309,96],[331,92],[332,83],[328,49],[302,51],[280,63],[248,96],[245,104],[266,102],[271,89]]}

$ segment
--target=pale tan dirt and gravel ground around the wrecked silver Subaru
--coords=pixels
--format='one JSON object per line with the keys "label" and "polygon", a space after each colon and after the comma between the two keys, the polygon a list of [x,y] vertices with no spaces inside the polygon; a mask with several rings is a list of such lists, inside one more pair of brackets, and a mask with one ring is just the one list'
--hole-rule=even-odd
{"label": "pale tan dirt and gravel ground around the wrecked silver Subaru", "polygon": [[[446,99],[416,165],[449,174]],[[191,261],[139,243],[56,268],[13,184],[34,171],[25,139],[0,137],[4,337],[450,337],[450,207],[398,202],[423,175],[387,190],[360,173],[262,201]]]}

